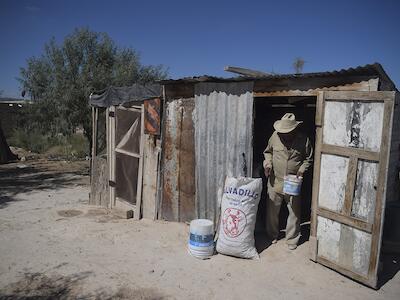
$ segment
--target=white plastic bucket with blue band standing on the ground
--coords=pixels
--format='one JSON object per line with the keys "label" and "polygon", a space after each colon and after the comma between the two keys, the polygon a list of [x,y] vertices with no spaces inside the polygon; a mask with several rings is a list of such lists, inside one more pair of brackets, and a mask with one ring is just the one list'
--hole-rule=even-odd
{"label": "white plastic bucket with blue band standing on the ground", "polygon": [[188,242],[189,253],[200,259],[210,258],[214,254],[214,223],[207,219],[190,222]]}

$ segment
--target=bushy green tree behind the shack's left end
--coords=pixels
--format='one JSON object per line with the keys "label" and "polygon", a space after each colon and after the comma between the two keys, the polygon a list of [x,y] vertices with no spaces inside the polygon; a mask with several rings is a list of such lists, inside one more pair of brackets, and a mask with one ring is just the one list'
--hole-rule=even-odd
{"label": "bushy green tree behind the shack's left end", "polygon": [[41,56],[27,60],[20,75],[22,89],[33,100],[27,129],[55,135],[71,134],[82,126],[90,142],[91,92],[164,79],[167,70],[144,66],[135,50],[118,47],[106,33],[81,28],[61,44],[51,39]]}

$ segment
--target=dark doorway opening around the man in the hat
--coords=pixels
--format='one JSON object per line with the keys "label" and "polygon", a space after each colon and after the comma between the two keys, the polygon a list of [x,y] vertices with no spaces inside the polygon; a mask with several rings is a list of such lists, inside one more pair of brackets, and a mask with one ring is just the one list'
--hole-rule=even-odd
{"label": "dark doorway opening around the man in the hat", "polygon": [[[267,201],[267,180],[263,168],[263,151],[268,144],[268,140],[274,132],[273,124],[280,120],[285,113],[294,113],[296,120],[303,121],[300,130],[310,138],[312,145],[315,145],[315,111],[316,97],[257,97],[254,98],[254,125],[253,125],[253,177],[263,179],[263,191],[258,206],[256,241],[258,240],[258,250],[260,240],[265,240],[266,230],[266,201]],[[301,188],[301,231],[302,238],[300,243],[308,240],[310,234],[311,218],[311,199],[312,199],[312,176],[311,167],[304,175]],[[285,228],[288,211],[285,205],[281,206],[279,217],[279,228]],[[259,236],[259,238],[257,238]],[[265,246],[265,248],[267,245]],[[264,249],[265,249],[264,248]]]}

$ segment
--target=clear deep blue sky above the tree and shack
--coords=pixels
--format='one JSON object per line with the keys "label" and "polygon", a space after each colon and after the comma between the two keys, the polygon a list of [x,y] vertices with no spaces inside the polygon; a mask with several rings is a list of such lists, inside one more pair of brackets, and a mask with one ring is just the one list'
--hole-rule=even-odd
{"label": "clear deep blue sky above the tree and shack", "polygon": [[171,78],[231,76],[224,66],[292,73],[380,62],[400,86],[400,1],[0,0],[0,90],[19,97],[26,59],[77,27],[107,32]]}

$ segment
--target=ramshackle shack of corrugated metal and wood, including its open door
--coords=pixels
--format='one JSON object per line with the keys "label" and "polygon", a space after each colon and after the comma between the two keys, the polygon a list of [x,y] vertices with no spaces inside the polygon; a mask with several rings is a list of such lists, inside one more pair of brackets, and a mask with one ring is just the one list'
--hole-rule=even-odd
{"label": "ramshackle shack of corrugated metal and wood, including its open door", "polygon": [[[383,212],[400,194],[400,98],[381,65],[160,84],[159,94],[107,106],[107,161],[96,172],[94,148],[92,187],[108,199],[94,188],[91,203],[132,207],[135,218],[216,222],[225,177],[262,176],[272,124],[294,112],[315,141],[302,192],[312,259],[376,287]],[[93,116],[97,124],[98,108]]]}

